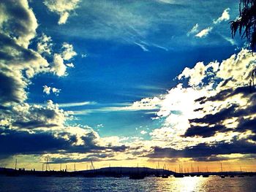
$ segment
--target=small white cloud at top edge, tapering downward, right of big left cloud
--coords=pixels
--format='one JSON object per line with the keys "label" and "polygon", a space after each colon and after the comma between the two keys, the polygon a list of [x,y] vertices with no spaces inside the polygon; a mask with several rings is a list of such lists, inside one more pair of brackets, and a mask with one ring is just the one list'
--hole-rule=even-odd
{"label": "small white cloud at top edge, tapering downward, right of big left cloud", "polygon": [[51,12],[56,12],[60,18],[58,24],[64,24],[69,18],[69,13],[78,8],[80,0],[45,0],[44,4]]}

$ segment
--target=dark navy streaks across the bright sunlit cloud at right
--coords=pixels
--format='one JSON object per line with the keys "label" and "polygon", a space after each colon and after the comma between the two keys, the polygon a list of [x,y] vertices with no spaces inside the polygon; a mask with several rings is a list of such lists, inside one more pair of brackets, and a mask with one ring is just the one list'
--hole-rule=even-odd
{"label": "dark navy streaks across the bright sunlit cloud at right", "polygon": [[[248,86],[238,87],[236,89],[229,88],[224,91],[220,91],[215,96],[204,96],[195,101],[200,102],[200,104],[206,103],[207,101],[225,101],[225,99],[235,96],[236,94],[242,94],[244,97],[249,98],[251,104],[248,104],[245,108],[239,107],[238,104],[230,104],[229,107],[222,108],[222,110],[215,114],[207,114],[203,116],[203,118],[190,119],[190,128],[187,129],[183,137],[212,137],[217,134],[217,132],[227,131],[244,132],[246,130],[252,130],[256,133],[256,128],[254,126],[256,123],[255,119],[244,119],[244,116],[254,115],[256,112],[256,94],[249,93]],[[203,108],[199,108],[197,110],[203,110]],[[232,128],[225,128],[225,126],[222,125],[223,120],[231,118],[238,118],[238,126],[235,130]],[[194,125],[195,123],[196,126]],[[205,124],[208,126],[205,126]]]}

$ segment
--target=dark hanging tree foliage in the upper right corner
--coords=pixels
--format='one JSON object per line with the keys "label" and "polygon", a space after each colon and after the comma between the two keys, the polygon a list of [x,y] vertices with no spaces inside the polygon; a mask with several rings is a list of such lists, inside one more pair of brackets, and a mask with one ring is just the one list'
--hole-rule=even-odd
{"label": "dark hanging tree foliage in the upper right corner", "polygon": [[249,47],[256,50],[256,0],[240,0],[239,12],[239,18],[230,22],[232,37],[238,31]]}

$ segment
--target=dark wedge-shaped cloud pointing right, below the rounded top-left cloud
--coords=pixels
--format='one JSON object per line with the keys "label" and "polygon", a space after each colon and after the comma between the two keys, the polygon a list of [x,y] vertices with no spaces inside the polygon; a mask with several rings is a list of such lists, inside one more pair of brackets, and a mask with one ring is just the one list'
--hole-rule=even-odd
{"label": "dark wedge-shaped cloud pointing right, below the rounded top-left cloud", "polygon": [[0,47],[0,104],[25,101],[25,88],[29,85],[26,77],[44,71],[48,63],[38,53],[4,34],[0,34]]}

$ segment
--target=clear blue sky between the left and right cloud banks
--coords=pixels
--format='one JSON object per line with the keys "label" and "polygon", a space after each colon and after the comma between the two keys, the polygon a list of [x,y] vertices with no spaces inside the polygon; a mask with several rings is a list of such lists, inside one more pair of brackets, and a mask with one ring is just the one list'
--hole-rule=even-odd
{"label": "clear blue sky between the left and right cloud banks", "polygon": [[[217,9],[206,9],[214,5]],[[72,58],[75,68],[68,69],[67,77],[42,75],[31,86],[31,92],[39,95],[45,84],[61,88],[59,96],[31,95],[31,102],[42,103],[46,99],[56,103],[97,102],[71,109],[87,110],[159,96],[176,85],[174,79],[185,66],[198,61],[222,61],[236,48],[222,37],[230,38],[228,20],[219,23],[203,39],[187,35],[196,23],[202,30],[208,27],[228,7],[237,13],[236,2],[83,1],[64,25],[56,25],[58,15],[50,12],[43,2],[32,2],[31,6],[41,24],[37,31],[47,33],[56,47],[58,42],[68,42],[78,53]],[[94,127],[103,124],[99,131],[103,136],[130,136],[138,134],[136,127],[154,128],[151,117],[154,114],[144,115],[144,112],[93,112],[79,115],[75,123]],[[117,131],[120,127],[121,133]]]}

